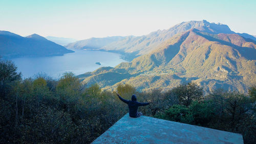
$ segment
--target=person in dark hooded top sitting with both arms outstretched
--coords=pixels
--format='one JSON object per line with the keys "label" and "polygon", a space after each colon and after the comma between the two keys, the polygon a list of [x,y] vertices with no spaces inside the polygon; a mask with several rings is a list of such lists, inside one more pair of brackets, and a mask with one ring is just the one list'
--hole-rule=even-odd
{"label": "person in dark hooded top sitting with both arms outstretched", "polygon": [[117,96],[119,97],[120,100],[122,100],[124,103],[126,103],[129,107],[129,115],[130,117],[140,117],[141,115],[143,115],[141,112],[138,112],[138,107],[139,106],[146,106],[149,105],[149,102],[138,102],[136,95],[132,95],[132,100],[126,100],[123,99],[118,93]]}

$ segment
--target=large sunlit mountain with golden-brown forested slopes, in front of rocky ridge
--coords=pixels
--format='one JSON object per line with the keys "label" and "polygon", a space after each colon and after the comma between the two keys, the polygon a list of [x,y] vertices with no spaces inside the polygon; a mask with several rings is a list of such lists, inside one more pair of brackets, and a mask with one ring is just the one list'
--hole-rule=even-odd
{"label": "large sunlit mountain with golden-brown forested slopes, in front of rocky ridge", "polygon": [[[202,30],[202,29],[201,29]],[[178,33],[148,54],[115,68],[103,67],[78,77],[88,86],[97,83],[113,90],[130,84],[137,90],[168,90],[194,81],[205,91],[216,88],[246,93],[256,84],[256,42],[239,34]]]}

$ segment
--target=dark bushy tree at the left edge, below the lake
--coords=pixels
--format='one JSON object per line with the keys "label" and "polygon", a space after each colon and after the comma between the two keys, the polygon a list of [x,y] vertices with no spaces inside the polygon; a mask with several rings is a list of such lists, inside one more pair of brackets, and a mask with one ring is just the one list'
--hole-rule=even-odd
{"label": "dark bushy tree at the left edge, below the lake", "polygon": [[21,79],[21,73],[11,61],[0,60],[0,96],[9,94],[16,81]]}

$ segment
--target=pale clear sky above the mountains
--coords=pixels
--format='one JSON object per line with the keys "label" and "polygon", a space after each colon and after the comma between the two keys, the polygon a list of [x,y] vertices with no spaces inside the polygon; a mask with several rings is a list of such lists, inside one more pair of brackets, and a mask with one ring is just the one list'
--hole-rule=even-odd
{"label": "pale clear sky above the mountains", "polygon": [[203,19],[256,35],[256,1],[0,0],[0,30],[22,36],[140,36]]}

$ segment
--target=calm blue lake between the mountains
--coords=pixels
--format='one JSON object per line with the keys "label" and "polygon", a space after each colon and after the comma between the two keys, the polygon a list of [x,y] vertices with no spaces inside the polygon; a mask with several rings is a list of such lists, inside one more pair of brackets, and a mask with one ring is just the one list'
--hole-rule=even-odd
{"label": "calm blue lake between the mountains", "polygon": [[[73,50],[63,56],[19,57],[12,58],[23,78],[33,77],[38,73],[46,73],[53,78],[59,78],[64,72],[76,75],[94,71],[100,67],[115,67],[124,62],[119,54],[102,51]],[[97,65],[95,63],[101,63]]]}

